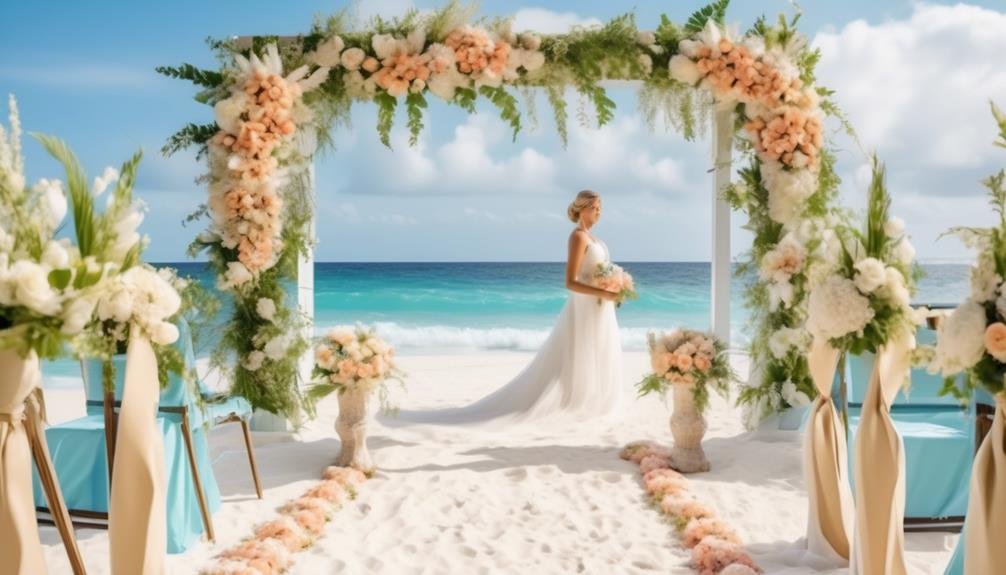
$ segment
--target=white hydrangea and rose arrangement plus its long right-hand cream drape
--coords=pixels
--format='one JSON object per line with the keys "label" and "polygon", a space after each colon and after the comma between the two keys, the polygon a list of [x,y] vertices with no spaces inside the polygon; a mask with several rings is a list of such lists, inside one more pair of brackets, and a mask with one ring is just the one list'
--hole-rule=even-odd
{"label": "white hydrangea and rose arrangement plus its long right-hand cream drape", "polygon": [[[910,306],[917,276],[914,249],[905,236],[903,221],[888,214],[890,195],[884,167],[876,158],[872,171],[864,228],[840,229],[841,256],[833,272],[812,286],[807,324],[815,351],[817,346],[830,347],[873,358],[856,429],[856,511],[850,560],[863,573],[904,573],[904,448],[890,419],[890,404],[909,381],[915,330],[925,322],[926,311]],[[822,367],[820,377],[821,387],[827,387],[828,392],[826,381],[834,373],[832,366],[834,363]],[[839,444],[836,454],[841,451]],[[837,460],[834,476],[844,474],[844,461]],[[811,462],[810,458],[805,461]],[[805,473],[812,472],[805,467]],[[840,502],[812,501],[812,519],[817,505],[839,509]],[[814,527],[812,523],[812,530]],[[813,534],[809,540],[813,541]],[[840,551],[840,547],[837,543],[835,550]]]}

